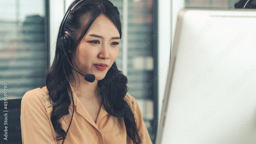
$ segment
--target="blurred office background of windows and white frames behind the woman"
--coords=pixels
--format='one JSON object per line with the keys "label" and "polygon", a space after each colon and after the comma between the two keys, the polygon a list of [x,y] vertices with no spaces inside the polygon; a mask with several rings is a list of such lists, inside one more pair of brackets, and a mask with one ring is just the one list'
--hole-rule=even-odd
{"label": "blurred office background of windows and white frames behind the woman", "polygon": [[[238,0],[110,1],[118,7],[123,23],[116,63],[128,77],[128,93],[140,104],[154,143],[178,13],[185,7],[234,8]],[[8,99],[45,86],[58,28],[71,2],[0,1],[0,92],[8,83]]]}

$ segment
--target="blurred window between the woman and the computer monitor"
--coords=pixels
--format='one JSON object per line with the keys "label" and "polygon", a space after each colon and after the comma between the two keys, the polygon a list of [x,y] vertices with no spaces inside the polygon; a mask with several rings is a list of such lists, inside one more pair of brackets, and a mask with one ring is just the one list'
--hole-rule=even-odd
{"label": "blurred window between the woman and the computer monitor", "polygon": [[[153,0],[111,0],[118,7],[122,25],[120,52],[116,59],[119,70],[128,78],[128,93],[139,103],[143,120],[152,142],[157,123],[154,123],[153,90],[154,79],[153,44],[158,32],[153,30]],[[156,110],[157,111],[157,110]]]}

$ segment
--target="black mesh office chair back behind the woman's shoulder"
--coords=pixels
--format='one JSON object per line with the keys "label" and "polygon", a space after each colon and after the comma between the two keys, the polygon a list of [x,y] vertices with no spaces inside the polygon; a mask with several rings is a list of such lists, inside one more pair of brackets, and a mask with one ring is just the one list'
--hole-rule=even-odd
{"label": "black mesh office chair back behind the woman's shoulder", "polygon": [[[0,141],[2,143],[12,143],[12,144],[22,144],[21,138],[21,125],[20,125],[20,105],[21,98],[19,99],[8,99],[7,100],[7,109],[5,109],[4,100],[0,101]],[[8,112],[4,112],[8,110]],[[7,125],[5,124],[5,114],[7,113]],[[4,140],[4,130],[7,126],[7,140]]]}

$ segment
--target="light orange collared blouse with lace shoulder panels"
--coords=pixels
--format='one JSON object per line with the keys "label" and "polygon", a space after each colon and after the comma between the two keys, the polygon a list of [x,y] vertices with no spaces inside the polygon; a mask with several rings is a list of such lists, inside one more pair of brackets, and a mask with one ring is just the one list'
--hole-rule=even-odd
{"label": "light orange collared blouse with lace shoulder panels", "polygon": [[[71,86],[74,98],[74,115],[64,143],[72,144],[133,144],[126,134],[123,117],[117,118],[106,112],[101,105],[96,123],[80,102]],[[71,98],[71,96],[70,96]],[[135,98],[128,93],[126,99],[137,122],[139,135],[144,144],[152,144],[147,128],[142,118],[141,110]],[[73,102],[69,106],[69,115],[61,119],[62,128],[67,131],[73,112]],[[52,104],[49,101],[47,87],[28,91],[21,102],[22,143],[61,144],[51,123]]]}

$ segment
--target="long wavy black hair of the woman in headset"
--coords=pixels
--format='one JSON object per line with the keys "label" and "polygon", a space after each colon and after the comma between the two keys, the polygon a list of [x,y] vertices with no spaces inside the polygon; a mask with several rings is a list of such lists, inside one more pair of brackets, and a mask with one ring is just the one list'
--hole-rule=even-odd
{"label": "long wavy black hair of the woman in headset", "polygon": [[[79,1],[80,0],[75,0],[71,3],[68,10]],[[74,63],[74,53],[76,48],[92,25],[93,21],[102,14],[113,22],[119,31],[121,39],[121,21],[118,8],[108,0],[84,0],[74,7],[66,25],[65,31],[68,31],[73,42],[70,48],[72,52],[67,52],[69,61],[72,61],[73,59],[72,62]],[[63,20],[64,18],[62,19],[62,23]],[[61,26],[59,27],[58,35],[60,35],[60,29]],[[73,77],[73,69],[71,65],[65,57],[62,58],[60,48],[58,47],[58,44],[56,44],[54,61],[46,75],[46,87],[49,92],[50,100],[53,103],[51,122],[55,131],[58,131],[58,136],[55,137],[57,141],[65,138],[66,132],[62,129],[60,120],[65,115],[69,114],[69,106],[71,104],[68,93],[69,83],[66,80],[62,62],[63,65],[65,65],[64,69],[68,79]],[[113,77],[115,78],[113,79]],[[109,83],[106,83],[106,80],[108,79],[110,79],[111,82],[108,81]],[[130,107],[126,110],[126,106],[128,105],[125,98],[128,91],[127,77],[122,71],[118,70],[115,62],[106,73],[106,76],[102,80],[98,81],[98,87],[102,87],[102,85],[105,85],[105,88],[100,92],[100,95],[106,112],[115,117],[123,117],[127,135],[134,143],[140,144],[141,139],[138,134],[138,128],[133,112]],[[70,88],[69,91],[71,91]],[[118,113],[124,109],[125,113],[118,115]]]}

